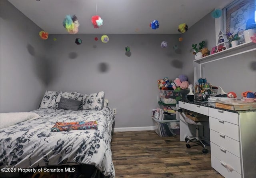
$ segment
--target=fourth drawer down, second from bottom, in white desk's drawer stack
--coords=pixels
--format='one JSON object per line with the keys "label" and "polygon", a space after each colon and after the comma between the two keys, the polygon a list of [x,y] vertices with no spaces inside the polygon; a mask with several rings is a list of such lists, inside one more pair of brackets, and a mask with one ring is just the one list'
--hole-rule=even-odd
{"label": "fourth drawer down, second from bottom, in white desk's drawer stack", "polygon": [[211,142],[211,155],[218,158],[218,160],[230,165],[236,172],[242,174],[241,158],[238,158],[234,154],[227,150],[219,147],[218,145]]}

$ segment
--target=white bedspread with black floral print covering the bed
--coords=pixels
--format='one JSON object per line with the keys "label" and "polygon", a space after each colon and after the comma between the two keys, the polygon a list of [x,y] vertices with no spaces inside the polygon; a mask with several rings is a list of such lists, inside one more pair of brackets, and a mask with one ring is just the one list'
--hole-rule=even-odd
{"label": "white bedspread with black floral print covering the bed", "polygon": [[[105,176],[115,177],[111,152],[114,115],[102,110],[32,111],[42,118],[26,120],[0,130],[0,167],[90,164]],[[55,122],[98,121],[98,129],[50,132]]]}

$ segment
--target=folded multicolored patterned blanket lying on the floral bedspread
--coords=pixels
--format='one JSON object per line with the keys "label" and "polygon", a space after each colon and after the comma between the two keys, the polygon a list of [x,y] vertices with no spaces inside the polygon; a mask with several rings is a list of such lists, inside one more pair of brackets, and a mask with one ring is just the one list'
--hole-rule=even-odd
{"label": "folded multicolored patterned blanket lying on the floral bedspread", "polygon": [[51,129],[51,132],[60,132],[67,130],[86,130],[97,129],[97,121],[81,121],[81,122],[56,122]]}

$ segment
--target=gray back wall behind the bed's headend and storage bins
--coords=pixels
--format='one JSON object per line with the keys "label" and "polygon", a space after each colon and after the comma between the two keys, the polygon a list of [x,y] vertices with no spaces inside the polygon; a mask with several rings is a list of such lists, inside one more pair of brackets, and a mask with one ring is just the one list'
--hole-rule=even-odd
{"label": "gray back wall behind the bed's headend and storage bins", "polygon": [[[157,80],[176,78],[181,72],[180,50],[172,48],[179,45],[179,35],[108,36],[110,40],[104,44],[101,35],[50,35],[47,63],[52,78],[47,90],[105,90],[109,106],[117,108],[116,128],[152,126],[151,110],[158,106]],[[75,38],[81,38],[82,44],[75,44]],[[168,48],[160,47],[164,40],[169,42]],[[126,46],[131,48],[130,57]],[[106,71],[100,72],[100,66]]]}

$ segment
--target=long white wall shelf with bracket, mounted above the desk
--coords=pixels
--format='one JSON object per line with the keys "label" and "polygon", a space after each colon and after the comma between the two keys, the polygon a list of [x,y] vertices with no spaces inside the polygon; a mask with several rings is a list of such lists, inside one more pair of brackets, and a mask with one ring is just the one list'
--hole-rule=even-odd
{"label": "long white wall shelf with bracket, mounted above the desk", "polygon": [[228,48],[226,50],[205,56],[203,58],[194,60],[194,84],[196,84],[198,78],[202,78],[202,64],[213,62],[216,60],[222,60],[239,54],[244,54],[246,52],[256,51],[256,44],[253,42],[247,42],[240,44],[238,46]]}

